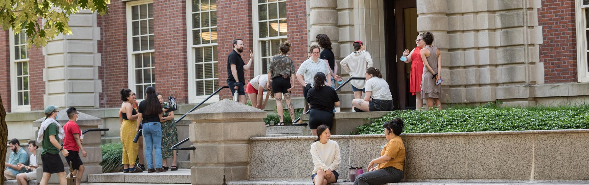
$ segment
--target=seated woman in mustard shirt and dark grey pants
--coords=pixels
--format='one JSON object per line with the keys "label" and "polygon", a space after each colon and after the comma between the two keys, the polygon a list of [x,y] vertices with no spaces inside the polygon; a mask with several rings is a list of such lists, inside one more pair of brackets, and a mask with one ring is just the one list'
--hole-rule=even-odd
{"label": "seated woman in mustard shirt and dark grey pants", "polygon": [[[382,148],[380,157],[370,161],[368,172],[356,177],[354,185],[398,183],[403,179],[405,145],[399,137],[403,132],[403,121],[401,118],[395,118],[395,120],[385,123],[383,127],[385,127],[386,140],[389,142]],[[378,166],[373,167],[374,164],[378,164]]]}

